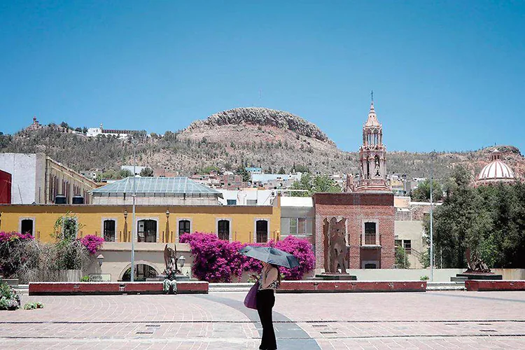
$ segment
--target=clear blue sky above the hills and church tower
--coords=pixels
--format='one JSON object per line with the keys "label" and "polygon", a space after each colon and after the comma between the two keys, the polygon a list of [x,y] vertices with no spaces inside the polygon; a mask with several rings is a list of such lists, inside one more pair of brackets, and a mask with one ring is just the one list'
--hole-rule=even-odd
{"label": "clear blue sky above the hills and church tower", "polygon": [[[525,153],[525,1],[2,1],[0,131],[163,133],[239,106],[356,151]],[[260,93],[262,92],[262,93]]]}

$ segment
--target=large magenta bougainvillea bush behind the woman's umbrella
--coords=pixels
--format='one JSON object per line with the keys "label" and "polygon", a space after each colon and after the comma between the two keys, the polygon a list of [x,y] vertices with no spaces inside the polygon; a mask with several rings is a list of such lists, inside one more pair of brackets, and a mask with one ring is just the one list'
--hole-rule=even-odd
{"label": "large magenta bougainvillea bush behind the woman's umbrella", "polygon": [[[181,235],[180,241],[190,245],[193,254],[193,274],[201,281],[231,282],[234,277],[240,279],[243,272],[258,272],[262,268],[260,261],[241,255],[239,250],[247,245],[263,244],[223,241],[214,234],[202,232]],[[292,253],[299,260],[299,267],[280,268],[285,279],[302,279],[305,273],[314,268],[314,252],[306,239],[289,236],[283,241],[269,241],[265,245]]]}

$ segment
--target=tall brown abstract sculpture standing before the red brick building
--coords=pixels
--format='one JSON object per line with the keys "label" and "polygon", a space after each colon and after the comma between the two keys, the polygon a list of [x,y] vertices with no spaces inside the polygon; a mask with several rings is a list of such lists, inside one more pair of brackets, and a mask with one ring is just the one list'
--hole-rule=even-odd
{"label": "tall brown abstract sculpture standing before the red brick building", "polygon": [[[337,221],[332,217],[330,221],[325,218],[323,221],[324,248],[325,248],[325,273],[328,274],[347,274],[346,255],[346,218]],[[341,272],[339,272],[341,269]]]}

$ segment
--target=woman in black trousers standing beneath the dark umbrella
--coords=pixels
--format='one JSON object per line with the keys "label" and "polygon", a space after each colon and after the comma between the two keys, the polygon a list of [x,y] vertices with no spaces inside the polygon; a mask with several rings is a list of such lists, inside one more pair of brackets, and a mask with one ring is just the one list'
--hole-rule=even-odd
{"label": "woman in black trousers standing beneath the dark umbrella", "polygon": [[275,304],[275,290],[281,284],[281,274],[277,265],[262,262],[262,272],[259,278],[259,289],[257,291],[257,312],[262,325],[262,340],[259,349],[275,350],[277,342],[275,339],[274,324],[272,321],[272,308]]}

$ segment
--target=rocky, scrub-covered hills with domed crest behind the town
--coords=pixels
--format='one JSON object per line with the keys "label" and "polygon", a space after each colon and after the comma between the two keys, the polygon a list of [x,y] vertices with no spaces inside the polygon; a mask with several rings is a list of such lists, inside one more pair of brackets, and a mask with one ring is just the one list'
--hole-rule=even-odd
{"label": "rocky, scrub-covered hills with domed crest behind the town", "polygon": [[[356,131],[359,133],[360,131]],[[360,138],[358,138],[360,139]],[[356,144],[356,151],[358,149]],[[525,159],[512,146],[498,146],[517,174],[525,174]],[[131,164],[132,146],[116,137],[85,137],[48,125],[27,128],[0,137],[1,152],[43,152],[76,170],[118,169]],[[462,164],[475,174],[489,162],[486,148],[461,153],[439,153],[435,176],[447,176]],[[207,167],[235,170],[240,165],[289,172],[293,165],[322,174],[356,173],[358,154],[337,148],[316,125],[288,112],[262,108],[231,109],[191,123],[185,130],[143,137],[137,163],[166,174],[189,175]],[[429,174],[428,153],[389,152],[389,173],[424,177]]]}

